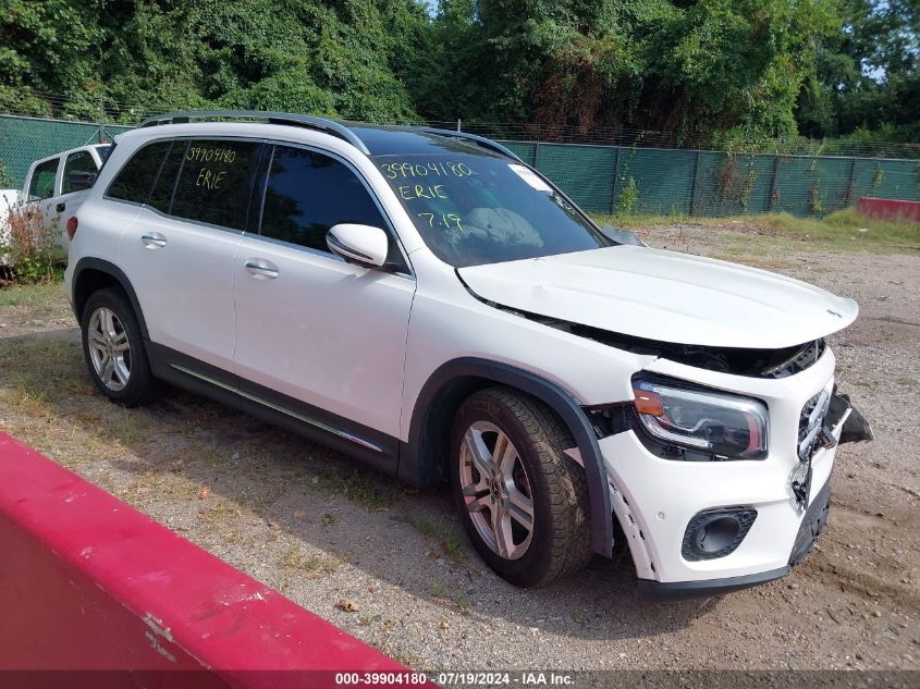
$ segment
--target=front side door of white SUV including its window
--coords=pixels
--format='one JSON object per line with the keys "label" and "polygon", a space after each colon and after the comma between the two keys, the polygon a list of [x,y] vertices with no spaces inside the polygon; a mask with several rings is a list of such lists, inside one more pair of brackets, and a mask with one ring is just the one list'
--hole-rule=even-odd
{"label": "front side door of white SUV including its window", "polygon": [[[263,199],[233,268],[241,390],[393,468],[415,279],[364,180],[307,147],[266,150]],[[390,233],[395,272],[347,263],[326,233],[353,222]]]}

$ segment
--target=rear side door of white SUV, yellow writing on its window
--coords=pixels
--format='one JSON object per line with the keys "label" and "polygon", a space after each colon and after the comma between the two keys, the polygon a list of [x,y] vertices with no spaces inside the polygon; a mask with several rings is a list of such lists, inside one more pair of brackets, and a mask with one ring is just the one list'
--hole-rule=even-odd
{"label": "rear side door of white SUV, yellow writing on its window", "polygon": [[210,370],[204,362],[220,377],[233,368],[233,258],[262,144],[196,138],[148,145],[154,146],[163,148],[150,156],[161,164],[152,192],[122,235],[122,267],[150,340],[162,347],[155,354],[187,369],[183,372]]}

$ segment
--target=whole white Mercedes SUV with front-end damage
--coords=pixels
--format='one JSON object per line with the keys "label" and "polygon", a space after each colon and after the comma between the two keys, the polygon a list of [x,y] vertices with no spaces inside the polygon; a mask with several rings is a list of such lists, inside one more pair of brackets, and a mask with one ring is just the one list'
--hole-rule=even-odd
{"label": "whole white Mercedes SUV with front-end damage", "polygon": [[663,596],[781,577],[824,525],[834,446],[871,436],[823,341],[855,302],[630,244],[471,135],[162,115],[118,137],[73,225],[105,395],[165,381],[450,480],[518,586],[622,540]]}

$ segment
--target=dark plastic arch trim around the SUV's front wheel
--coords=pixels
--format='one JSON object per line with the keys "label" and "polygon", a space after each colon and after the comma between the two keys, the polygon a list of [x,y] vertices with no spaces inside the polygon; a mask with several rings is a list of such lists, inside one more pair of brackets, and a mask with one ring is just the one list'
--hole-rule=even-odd
{"label": "dark plastic arch trim around the SUV's front wheel", "polygon": [[457,406],[474,392],[507,385],[536,397],[565,423],[581,454],[591,508],[591,546],[605,557],[613,544],[613,513],[598,439],[573,396],[556,383],[524,369],[476,357],[453,359],[426,381],[412,411],[408,440],[401,443],[397,473],[414,485],[446,478],[445,440]]}

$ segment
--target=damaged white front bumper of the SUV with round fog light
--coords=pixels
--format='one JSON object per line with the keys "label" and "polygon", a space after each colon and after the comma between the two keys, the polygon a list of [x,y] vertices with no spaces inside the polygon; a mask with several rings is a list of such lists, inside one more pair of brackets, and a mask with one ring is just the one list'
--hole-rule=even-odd
{"label": "damaged white front bumper of the SUV with round fog light", "polygon": [[[862,415],[836,392],[833,366],[833,356],[822,357],[776,385],[748,379],[739,385],[748,390],[735,389],[770,407],[776,433],[761,460],[664,459],[649,452],[637,430],[599,441],[643,593],[671,601],[727,593],[783,577],[808,554],[826,524],[836,445],[872,439]],[[815,415],[819,432],[802,460],[801,441],[813,429],[802,428],[801,419],[819,395],[825,406]],[[795,428],[799,443],[788,442]],[[797,492],[802,467],[808,480]],[[694,553],[694,543],[707,539],[717,547]]]}

